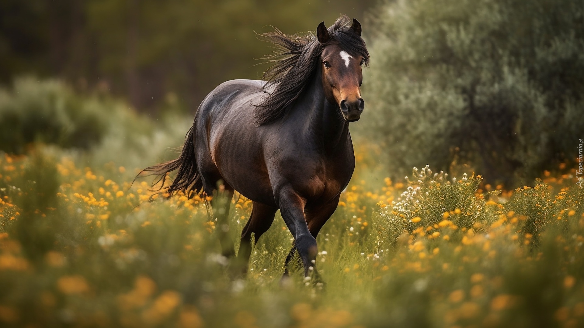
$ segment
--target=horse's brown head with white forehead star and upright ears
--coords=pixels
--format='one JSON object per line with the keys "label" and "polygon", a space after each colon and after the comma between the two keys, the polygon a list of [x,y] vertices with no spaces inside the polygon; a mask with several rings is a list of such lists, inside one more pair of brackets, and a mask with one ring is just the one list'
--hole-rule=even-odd
{"label": "horse's brown head with white forehead star and upright ears", "polygon": [[[356,19],[353,19],[350,30],[353,32],[352,38],[357,38],[362,43],[361,24]],[[338,104],[346,121],[357,121],[365,107],[361,98],[361,66],[368,58],[357,55],[352,49],[344,49],[342,43],[335,40],[326,29],[325,22],[318,26],[317,38],[324,46],[321,65],[322,88],[326,99],[332,104]]]}

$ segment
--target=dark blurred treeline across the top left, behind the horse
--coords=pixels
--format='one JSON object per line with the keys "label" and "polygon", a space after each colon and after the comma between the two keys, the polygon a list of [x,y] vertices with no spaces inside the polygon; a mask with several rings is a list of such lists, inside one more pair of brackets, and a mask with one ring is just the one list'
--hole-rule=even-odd
{"label": "dark blurred treeline across the top left, behind the horse", "polygon": [[[138,109],[196,109],[219,83],[260,78],[271,50],[255,32],[286,33],[360,19],[375,0],[5,0],[0,80],[58,75],[79,88],[127,95]],[[256,66],[257,65],[257,66]]]}

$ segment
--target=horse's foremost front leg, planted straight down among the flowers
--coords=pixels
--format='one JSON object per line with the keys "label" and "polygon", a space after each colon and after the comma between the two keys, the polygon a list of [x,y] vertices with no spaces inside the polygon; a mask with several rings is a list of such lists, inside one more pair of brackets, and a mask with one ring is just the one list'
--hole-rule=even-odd
{"label": "horse's foremost front leg, planted straight down among the flowers", "polygon": [[308,230],[304,216],[306,200],[300,197],[291,187],[281,189],[278,200],[282,218],[294,237],[294,248],[296,248],[302,259],[304,276],[309,277],[316,273],[315,261],[318,248],[317,240]]}

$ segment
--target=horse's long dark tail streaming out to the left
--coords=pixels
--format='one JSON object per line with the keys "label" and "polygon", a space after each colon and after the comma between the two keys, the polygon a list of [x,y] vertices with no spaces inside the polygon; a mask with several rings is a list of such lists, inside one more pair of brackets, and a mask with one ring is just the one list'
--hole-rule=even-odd
{"label": "horse's long dark tail streaming out to the left", "polygon": [[[178,170],[172,184],[166,187],[169,196],[172,196],[176,191],[183,191],[189,198],[194,194],[201,193],[203,191],[203,180],[201,180],[201,175],[197,169],[197,162],[194,155],[193,135],[194,125],[186,134],[185,145],[183,145],[179,158],[145,168],[142,172],[138,173],[137,177],[151,175],[158,176],[158,180],[155,180],[152,185],[154,186],[155,184],[162,182],[158,189],[161,190],[164,188],[164,182],[166,181],[168,173]],[[191,193],[191,191],[194,191],[194,193]]]}

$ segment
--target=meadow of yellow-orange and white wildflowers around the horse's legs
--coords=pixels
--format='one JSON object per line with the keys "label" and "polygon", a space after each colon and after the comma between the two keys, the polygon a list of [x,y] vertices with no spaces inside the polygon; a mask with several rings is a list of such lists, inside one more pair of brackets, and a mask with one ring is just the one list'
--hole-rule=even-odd
{"label": "meadow of yellow-orange and white wildflowers around the horse's legs", "polygon": [[[414,169],[359,172],[318,237],[326,281],[300,267],[277,216],[231,278],[206,201],[131,184],[38,146],[0,156],[0,323],[6,327],[579,327],[584,190],[562,164],[534,187]],[[359,166],[358,165],[358,166]],[[251,201],[237,196],[232,231]],[[237,236],[232,236],[238,245]]]}

